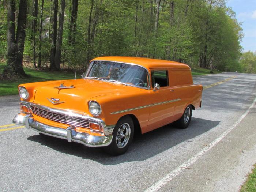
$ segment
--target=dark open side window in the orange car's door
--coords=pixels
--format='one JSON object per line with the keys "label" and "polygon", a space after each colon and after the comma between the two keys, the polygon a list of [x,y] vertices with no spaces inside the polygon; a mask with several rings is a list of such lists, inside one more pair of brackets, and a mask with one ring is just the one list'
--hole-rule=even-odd
{"label": "dark open side window in the orange car's door", "polygon": [[152,87],[158,83],[160,87],[168,86],[168,72],[166,70],[151,71]]}

